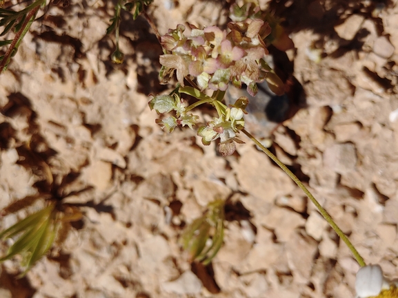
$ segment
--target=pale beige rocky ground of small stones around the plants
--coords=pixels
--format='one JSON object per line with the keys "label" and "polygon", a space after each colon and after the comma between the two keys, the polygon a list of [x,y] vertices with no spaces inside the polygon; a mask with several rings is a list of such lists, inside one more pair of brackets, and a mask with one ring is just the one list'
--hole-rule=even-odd
{"label": "pale beige rocky ground of small stones around the plants", "polygon": [[[398,1],[260,2],[285,19],[295,49],[276,53],[275,67],[302,92],[290,94],[297,112],[281,125],[253,108],[249,127],[272,141],[365,261],[396,278]],[[4,262],[0,296],[354,297],[350,251],[248,138],[223,158],[195,131],[155,124],[148,94],[168,88],[157,81],[161,47],[145,19],[122,14],[126,58],[112,64],[113,5],[50,6],[1,74],[0,208],[45,193],[48,164],[52,195],[84,215],[26,277],[15,278],[17,260]],[[165,34],[178,23],[223,25],[226,6],[155,0],[148,14]],[[179,236],[215,198],[227,200],[226,235],[203,267]],[[24,212],[1,218],[1,229]]]}

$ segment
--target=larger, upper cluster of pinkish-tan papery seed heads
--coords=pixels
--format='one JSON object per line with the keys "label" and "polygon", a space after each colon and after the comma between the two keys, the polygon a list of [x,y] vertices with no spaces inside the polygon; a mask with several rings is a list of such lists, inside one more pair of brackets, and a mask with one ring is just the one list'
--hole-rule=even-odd
{"label": "larger, upper cluster of pinkish-tan papery seed heads", "polygon": [[196,78],[201,91],[225,91],[232,82],[237,87],[246,84],[251,96],[257,94],[257,84],[264,80],[272,91],[283,94],[283,83],[263,59],[268,54],[263,39],[271,32],[267,22],[246,19],[228,23],[228,30],[210,26],[199,30],[190,25],[190,36],[183,33],[184,25],[161,37],[168,54],[160,56],[162,76],[172,75],[184,85],[184,78]]}

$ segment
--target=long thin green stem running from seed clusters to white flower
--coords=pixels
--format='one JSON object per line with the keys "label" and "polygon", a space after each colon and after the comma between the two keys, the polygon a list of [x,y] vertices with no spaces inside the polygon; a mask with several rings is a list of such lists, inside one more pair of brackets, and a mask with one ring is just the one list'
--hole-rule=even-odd
{"label": "long thin green stem running from seed clusters to white flower", "polygon": [[330,226],[333,228],[333,230],[335,230],[335,232],[337,233],[337,235],[339,235],[339,237],[341,238],[341,240],[344,241],[344,243],[348,246],[348,248],[350,249],[350,251],[352,252],[352,255],[354,255],[355,259],[357,259],[357,262],[359,264],[359,266],[366,266],[364,259],[361,257],[361,255],[359,255],[358,251],[355,249],[355,247],[352,245],[352,243],[350,242],[350,240],[348,240],[348,237],[343,233],[343,231],[341,231],[341,229],[339,228],[339,226],[337,226],[337,224],[332,220],[332,217],[330,217],[329,213],[324,209],[324,207],[321,206],[321,204],[319,204],[319,202],[317,201],[317,199],[314,198],[314,196],[310,193],[310,191],[308,191],[308,189],[304,186],[304,184],[299,180],[299,178],[296,177],[296,175],[294,173],[292,173],[292,171],[290,171],[288,169],[288,167],[286,167],[286,165],[284,165],[274,154],[272,154],[268,149],[266,149],[266,147],[264,147],[263,145],[261,145],[261,142],[259,142],[254,136],[252,136],[248,131],[246,131],[246,129],[242,129],[243,134],[246,134],[246,136],[248,136],[248,138],[250,138],[250,140],[252,140],[253,142],[255,142],[255,144],[261,148],[261,150],[266,153],[266,155],[271,158],[274,162],[276,162],[276,164],[286,173],[288,174],[288,176],[290,177],[290,179],[292,179],[298,186],[300,189],[302,189],[304,191],[304,193],[306,193],[307,197],[311,200],[311,202],[313,204],[315,204],[315,206],[317,207],[317,209],[319,210],[319,213],[321,213],[322,216],[324,216],[326,222],[328,222],[328,224],[330,224]]}

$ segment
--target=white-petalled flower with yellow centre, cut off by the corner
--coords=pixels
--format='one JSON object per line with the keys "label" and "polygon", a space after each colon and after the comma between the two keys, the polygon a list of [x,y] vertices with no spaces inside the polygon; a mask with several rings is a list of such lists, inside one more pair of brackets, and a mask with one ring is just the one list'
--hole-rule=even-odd
{"label": "white-petalled flower with yellow centre, cut off by the corner", "polygon": [[355,281],[357,298],[398,298],[398,282],[388,281],[379,265],[360,268]]}

